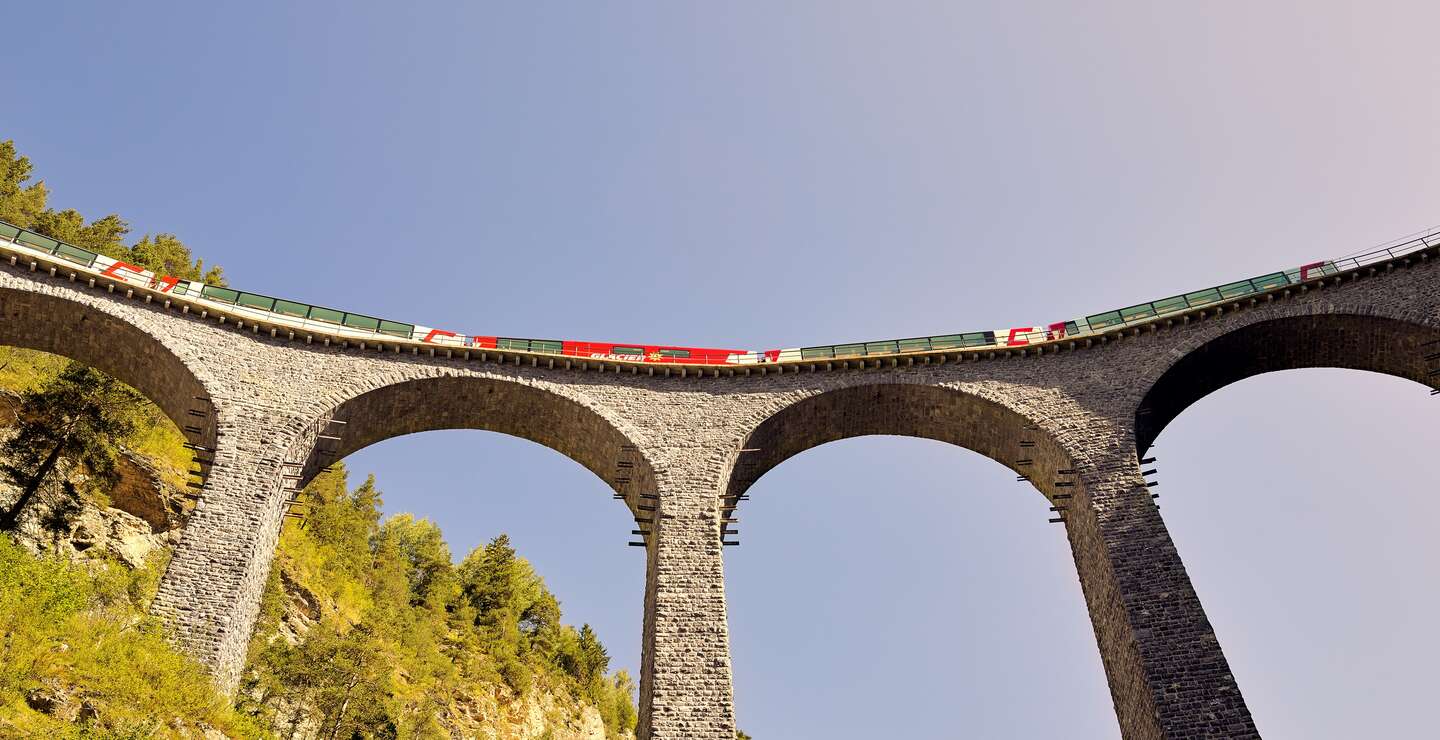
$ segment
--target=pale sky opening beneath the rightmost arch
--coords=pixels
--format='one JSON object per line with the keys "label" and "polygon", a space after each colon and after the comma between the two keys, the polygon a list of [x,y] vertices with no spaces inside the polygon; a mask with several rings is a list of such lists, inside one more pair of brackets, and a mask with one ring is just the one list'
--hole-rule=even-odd
{"label": "pale sky opening beneath the rightmost arch", "polygon": [[1392,374],[1238,380],[1149,452],[1166,525],[1266,736],[1404,737],[1430,721],[1440,399]]}

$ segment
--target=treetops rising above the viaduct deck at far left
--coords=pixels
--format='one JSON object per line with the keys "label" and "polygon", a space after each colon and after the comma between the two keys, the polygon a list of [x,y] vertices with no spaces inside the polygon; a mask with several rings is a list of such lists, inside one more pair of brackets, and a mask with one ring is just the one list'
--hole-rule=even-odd
{"label": "treetops rising above the viaduct deck at far left", "polygon": [[164,275],[204,281],[207,285],[225,285],[225,272],[217,266],[206,269],[204,263],[190,253],[190,248],[173,233],[153,236],[147,233],[127,246],[130,223],[115,213],[86,222],[75,209],[46,207],[49,190],[43,181],[26,186],[30,174],[30,160],[16,151],[14,141],[0,141],[0,220]]}

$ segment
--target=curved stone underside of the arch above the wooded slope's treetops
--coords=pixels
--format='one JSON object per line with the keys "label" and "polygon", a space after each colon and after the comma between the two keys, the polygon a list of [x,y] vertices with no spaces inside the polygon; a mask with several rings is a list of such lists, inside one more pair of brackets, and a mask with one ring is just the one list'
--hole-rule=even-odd
{"label": "curved stone underside of the arch above the wooded slope's treetops", "polygon": [[[314,422],[314,442],[304,441],[311,449],[301,485],[331,462],[377,442],[444,429],[500,432],[544,445],[583,465],[616,494],[654,488],[649,461],[634,432],[595,406],[536,384],[480,374],[410,377],[340,402]],[[631,465],[619,468],[622,461]]]}

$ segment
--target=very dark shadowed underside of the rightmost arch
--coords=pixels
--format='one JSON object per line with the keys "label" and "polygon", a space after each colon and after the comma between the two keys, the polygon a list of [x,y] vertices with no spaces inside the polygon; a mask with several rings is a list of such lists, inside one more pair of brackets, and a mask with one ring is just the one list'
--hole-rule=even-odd
{"label": "very dark shadowed underside of the rightmost arch", "polygon": [[[1145,455],[1161,432],[1200,399],[1261,373],[1335,367],[1368,370],[1436,387],[1440,327],[1420,315],[1297,311],[1205,333],[1166,354],[1135,407],[1135,446]],[[1440,377],[1440,376],[1437,376]]]}

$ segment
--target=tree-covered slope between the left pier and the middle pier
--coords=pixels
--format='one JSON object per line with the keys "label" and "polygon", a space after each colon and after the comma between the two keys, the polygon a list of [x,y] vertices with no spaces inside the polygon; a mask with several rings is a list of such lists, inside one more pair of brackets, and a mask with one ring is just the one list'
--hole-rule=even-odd
{"label": "tree-covered slope between the left pier and the middle pier", "polygon": [[[544,580],[500,536],[454,564],[439,527],[408,514],[380,523],[373,478],[346,487],[341,465],[305,489],[304,528],[287,525],[251,645],[242,708],[321,734],[429,737],[461,695],[539,687],[595,705],[612,736],[635,727],[634,682],[606,675],[595,631],[560,623]],[[312,605],[298,644],[278,635],[282,582]],[[338,734],[331,734],[338,733]]]}

